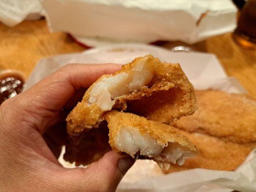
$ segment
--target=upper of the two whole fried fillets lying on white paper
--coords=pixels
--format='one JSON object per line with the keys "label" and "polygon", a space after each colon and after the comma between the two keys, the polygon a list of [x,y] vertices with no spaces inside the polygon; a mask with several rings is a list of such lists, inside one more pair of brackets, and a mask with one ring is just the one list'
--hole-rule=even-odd
{"label": "upper of the two whole fried fillets lying on white paper", "polygon": [[195,91],[198,110],[172,125],[235,143],[256,142],[256,99],[221,91]]}

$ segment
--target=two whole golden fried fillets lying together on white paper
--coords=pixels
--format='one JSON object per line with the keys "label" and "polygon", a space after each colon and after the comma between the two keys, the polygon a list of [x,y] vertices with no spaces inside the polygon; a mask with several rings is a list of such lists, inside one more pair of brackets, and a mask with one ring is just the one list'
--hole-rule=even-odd
{"label": "two whole golden fried fillets lying together on white paper", "polygon": [[256,147],[256,99],[217,90],[195,90],[195,96],[198,110],[171,126],[193,142],[200,155],[183,166],[171,165],[166,172],[235,170]]}

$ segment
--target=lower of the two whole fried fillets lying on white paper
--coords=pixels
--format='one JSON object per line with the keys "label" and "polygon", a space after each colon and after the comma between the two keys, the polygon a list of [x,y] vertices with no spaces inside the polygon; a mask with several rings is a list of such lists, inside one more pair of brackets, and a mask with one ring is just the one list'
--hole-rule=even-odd
{"label": "lower of the two whole fried fillets lying on white paper", "polygon": [[191,168],[215,170],[234,170],[244,162],[246,156],[256,147],[256,143],[236,144],[201,133],[190,133],[177,130],[196,145],[200,154],[189,158],[182,166],[171,165],[165,173]]}

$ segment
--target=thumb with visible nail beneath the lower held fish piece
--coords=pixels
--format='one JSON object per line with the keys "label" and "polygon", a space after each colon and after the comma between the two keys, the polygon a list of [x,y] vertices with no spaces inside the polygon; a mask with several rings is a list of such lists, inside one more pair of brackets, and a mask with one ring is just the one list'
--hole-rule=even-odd
{"label": "thumb with visible nail beneath the lower held fish piece", "polygon": [[69,169],[69,183],[76,191],[114,192],[124,174],[133,166],[132,157],[119,158],[110,151],[87,168]]}

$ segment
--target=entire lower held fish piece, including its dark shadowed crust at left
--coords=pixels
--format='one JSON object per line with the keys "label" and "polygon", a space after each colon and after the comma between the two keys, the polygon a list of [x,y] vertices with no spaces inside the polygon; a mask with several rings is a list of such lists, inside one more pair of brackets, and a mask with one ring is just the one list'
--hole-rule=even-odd
{"label": "entire lower held fish piece, including its dark shadowed crust at left", "polygon": [[119,111],[108,112],[105,119],[109,135],[106,121],[103,121],[99,128],[72,136],[66,144],[64,159],[71,163],[75,161],[76,165],[87,165],[112,148],[120,157],[138,155],[168,169],[170,165],[182,165],[185,159],[198,154],[195,145],[169,125]]}

